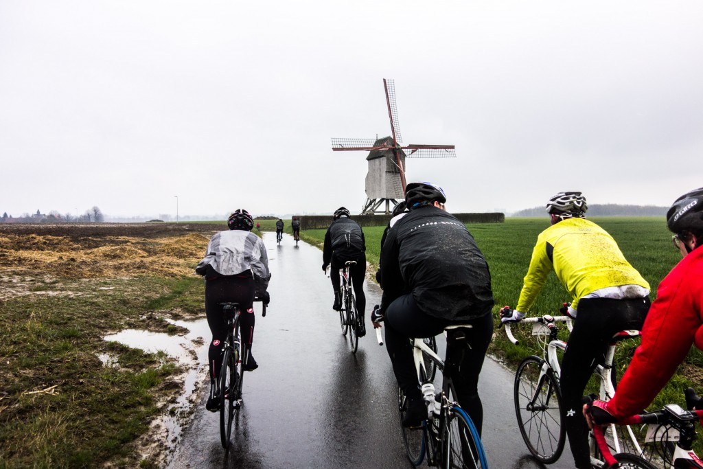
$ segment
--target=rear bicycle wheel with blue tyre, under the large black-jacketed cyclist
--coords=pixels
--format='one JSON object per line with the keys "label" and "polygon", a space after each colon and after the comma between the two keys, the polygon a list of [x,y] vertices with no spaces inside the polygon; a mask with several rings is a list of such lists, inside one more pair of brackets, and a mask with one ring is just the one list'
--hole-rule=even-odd
{"label": "rear bicycle wheel with blue tyre, under the large black-jacketed cyclist", "polygon": [[453,407],[444,425],[442,442],[442,467],[444,469],[486,469],[486,453],[475,425],[458,406]]}

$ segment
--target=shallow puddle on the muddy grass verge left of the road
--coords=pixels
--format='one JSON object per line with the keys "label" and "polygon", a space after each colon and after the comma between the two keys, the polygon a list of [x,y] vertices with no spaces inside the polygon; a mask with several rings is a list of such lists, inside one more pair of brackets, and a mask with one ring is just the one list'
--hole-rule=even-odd
{"label": "shallow puddle on the muddy grass verge left of the road", "polygon": [[[169,405],[169,412],[165,416],[155,419],[153,429],[162,429],[167,435],[157,437],[161,443],[166,443],[166,453],[171,455],[179,442],[183,431],[185,419],[191,415],[193,404],[197,396],[193,393],[202,383],[205,367],[207,366],[207,348],[209,345],[210,330],[207,319],[196,321],[172,321],[169,323],[188,329],[186,335],[168,335],[155,333],[149,330],[126,329],[119,333],[105,336],[105,340],[120,342],[127,347],[142,349],[145,352],[165,352],[178,359],[186,367],[183,376],[183,389],[175,404]],[[194,356],[195,354],[195,356]],[[114,356],[101,356],[105,366],[119,366]]]}

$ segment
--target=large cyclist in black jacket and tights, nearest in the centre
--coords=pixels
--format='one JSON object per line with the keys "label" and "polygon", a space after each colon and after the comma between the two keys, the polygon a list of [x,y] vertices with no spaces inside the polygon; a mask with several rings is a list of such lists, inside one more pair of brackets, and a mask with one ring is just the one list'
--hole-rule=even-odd
{"label": "large cyclist in black jacket and tights, nearest in the centre", "polygon": [[472,324],[467,345],[451,359],[458,365],[456,398],[480,432],[478,378],[493,335],[491,274],[464,224],[444,210],[445,202],[444,191],[435,184],[408,184],[410,211],[394,221],[381,250],[379,312],[385,316],[385,344],[398,385],[411,399],[406,427],[427,418],[408,338],[432,337],[451,324]]}

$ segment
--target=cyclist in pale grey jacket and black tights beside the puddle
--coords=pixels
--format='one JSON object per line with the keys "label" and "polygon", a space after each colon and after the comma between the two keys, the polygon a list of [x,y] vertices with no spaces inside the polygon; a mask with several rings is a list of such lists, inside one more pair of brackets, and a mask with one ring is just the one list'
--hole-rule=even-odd
{"label": "cyclist in pale grey jacket and black tights beside the puddle", "polygon": [[[213,395],[214,383],[219,376],[223,341],[227,336],[227,323],[219,303],[240,304],[242,341],[245,347],[245,371],[253,371],[259,365],[252,356],[254,338],[254,277],[268,281],[269,258],[266,247],[259,236],[250,231],[254,227],[252,216],[246,210],[235,210],[227,220],[228,231],[219,231],[207,243],[207,253],[195,272],[205,276],[205,314],[212,333],[207,351],[210,375],[210,396],[205,407],[209,411],[219,410],[219,397]],[[263,301],[269,303],[268,293]]]}

